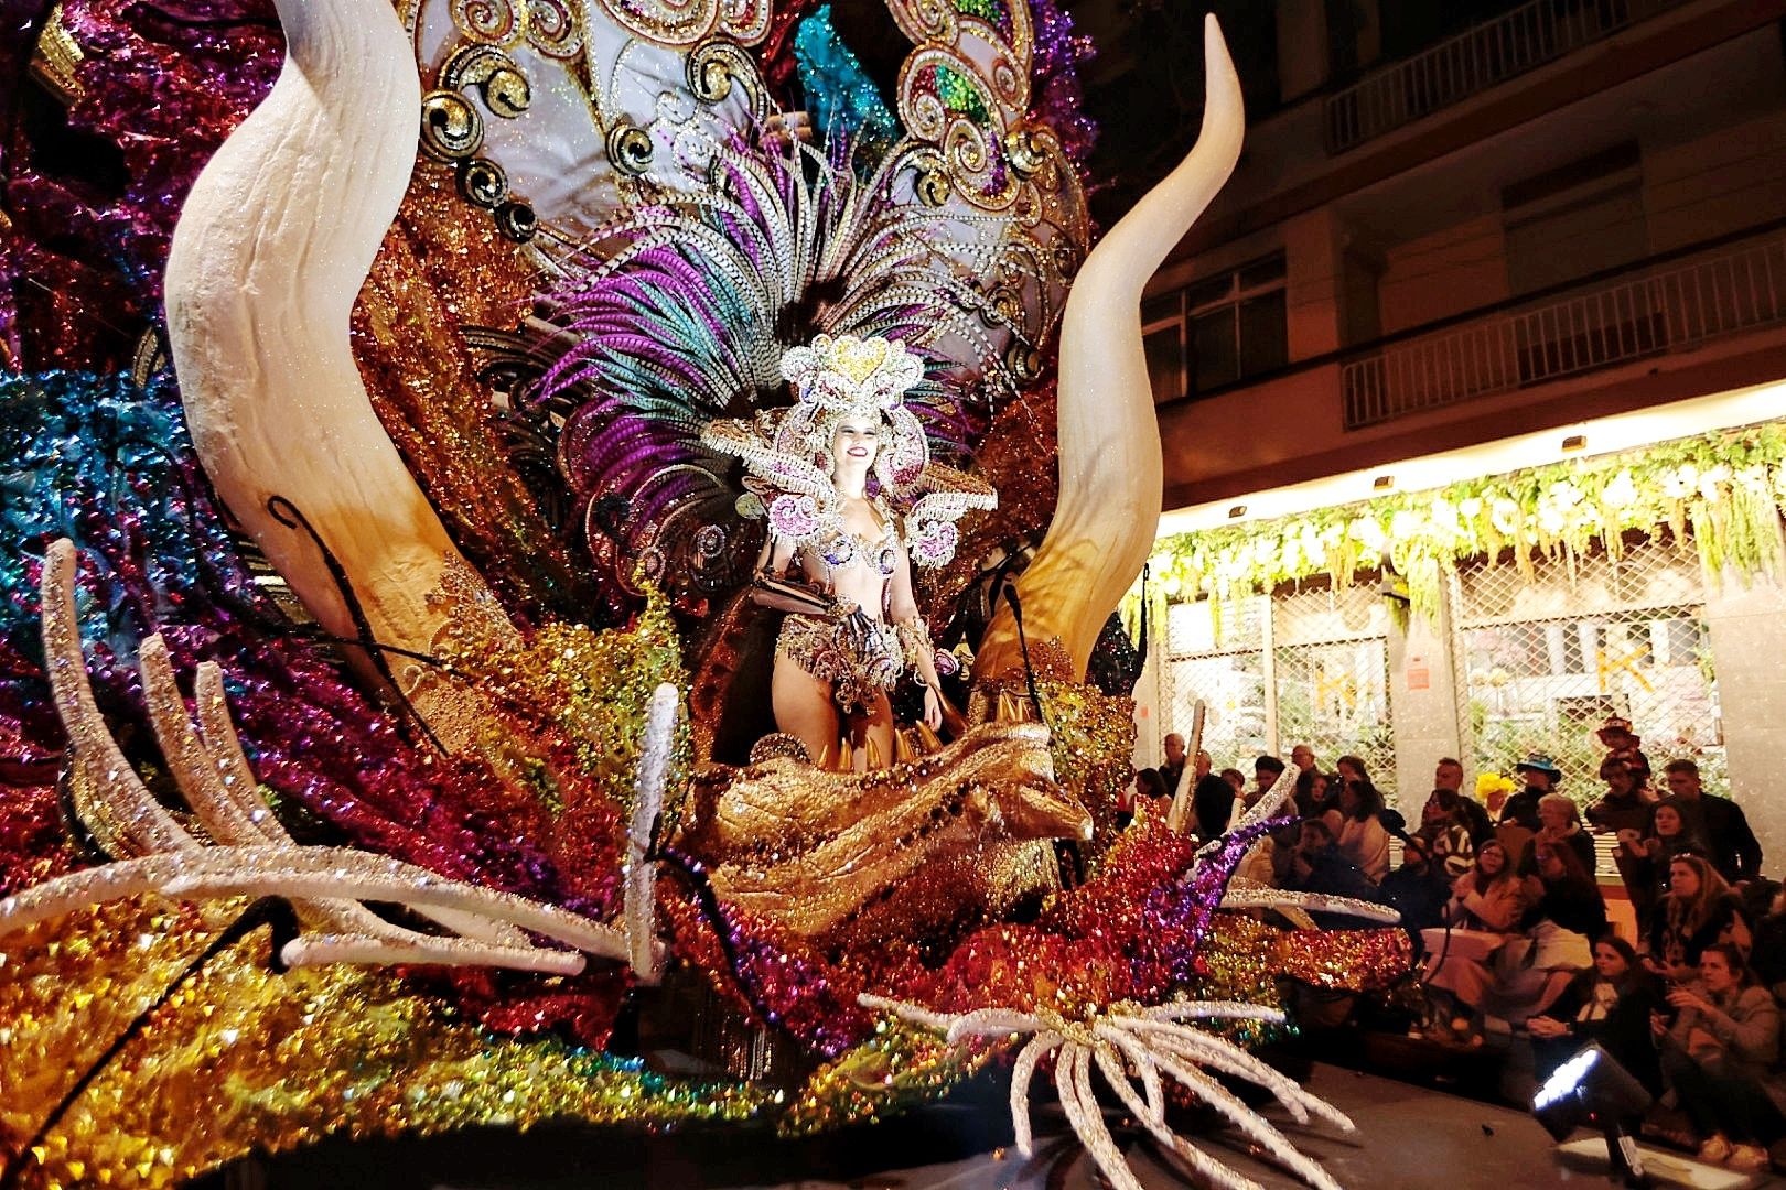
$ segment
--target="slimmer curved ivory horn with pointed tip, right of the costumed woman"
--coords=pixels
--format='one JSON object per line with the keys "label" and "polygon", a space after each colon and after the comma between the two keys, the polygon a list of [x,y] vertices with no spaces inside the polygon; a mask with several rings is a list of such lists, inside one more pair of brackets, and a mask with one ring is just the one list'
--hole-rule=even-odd
{"label": "slimmer curved ivory horn with pointed tip, right of the costumed woman", "polygon": [[[1141,351],[1141,287],[1227,182],[1247,125],[1214,16],[1204,21],[1204,61],[1197,146],[1091,250],[1061,319],[1061,498],[1018,589],[1025,635],[1059,637],[1075,676],[1159,530],[1164,482]],[[973,671],[997,678],[1016,664],[1016,624],[1000,607]]]}

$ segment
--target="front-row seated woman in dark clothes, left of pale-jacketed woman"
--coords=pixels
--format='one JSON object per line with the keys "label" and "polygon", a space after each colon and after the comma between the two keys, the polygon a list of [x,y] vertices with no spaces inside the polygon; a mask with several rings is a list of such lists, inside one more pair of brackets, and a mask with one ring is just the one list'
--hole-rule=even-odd
{"label": "front-row seated woman in dark clothes, left of pale-jacketed woman", "polygon": [[1538,1081],[1550,1078],[1575,1051],[1598,1042],[1652,1095],[1661,1095],[1663,1070],[1650,1037],[1650,1013],[1661,1003],[1656,976],[1643,969],[1631,944],[1616,933],[1600,935],[1593,944],[1593,969],[1575,976],[1543,1015],[1525,1022]]}

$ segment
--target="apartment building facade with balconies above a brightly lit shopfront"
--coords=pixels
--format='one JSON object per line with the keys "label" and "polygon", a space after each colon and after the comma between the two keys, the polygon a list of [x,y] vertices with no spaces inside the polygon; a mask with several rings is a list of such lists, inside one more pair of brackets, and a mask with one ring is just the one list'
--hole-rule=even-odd
{"label": "apartment building facade with balconies above a brightly lit shopfront", "polygon": [[[1586,794],[1620,714],[1786,855],[1786,492],[1756,521],[1732,478],[1781,475],[1786,0],[1529,0],[1423,43],[1413,0],[1275,14],[1282,103],[1143,302],[1168,608],[1141,758],[1202,701],[1218,762],[1357,751],[1416,812],[1443,755],[1552,751]],[[1632,483],[1695,512],[1632,521]],[[1432,566],[1457,503],[1488,541]]]}

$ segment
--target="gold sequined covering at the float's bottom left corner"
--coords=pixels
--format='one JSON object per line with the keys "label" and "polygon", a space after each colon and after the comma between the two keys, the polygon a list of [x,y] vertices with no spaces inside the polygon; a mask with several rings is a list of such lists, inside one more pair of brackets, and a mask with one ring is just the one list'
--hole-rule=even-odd
{"label": "gold sequined covering at the float's bottom left corner", "polygon": [[[20,1185],[168,1186],[329,1133],[739,1120],[770,1104],[748,1087],[491,1040],[384,972],[271,974],[264,928],[182,981],[241,908],[143,897],[0,940],[0,1165],[18,1163]],[[30,1144],[143,1012],[145,1026]]]}

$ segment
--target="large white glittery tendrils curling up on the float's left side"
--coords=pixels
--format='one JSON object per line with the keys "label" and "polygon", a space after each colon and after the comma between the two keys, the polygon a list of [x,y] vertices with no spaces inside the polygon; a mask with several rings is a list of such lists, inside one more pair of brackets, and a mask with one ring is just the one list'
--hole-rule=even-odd
{"label": "large white glittery tendrils curling up on the float's left side", "polygon": [[[663,944],[652,928],[650,824],[663,805],[664,769],[675,737],[675,687],[652,699],[641,749],[629,839],[623,928],[448,880],[414,864],[350,847],[307,847],[279,824],[259,794],[223,698],[214,662],[198,665],[196,723],[173,680],[166,642],[141,646],[143,698],[155,740],[207,846],[163,806],[130,767],[100,719],[80,651],[75,612],[75,546],[52,542],[43,566],[43,648],[57,714],[68,730],[77,785],[111,824],[129,858],[102,864],[0,899],[0,935],[120,897],[277,896],[291,901],[300,933],[280,947],[288,967],[323,963],[441,963],[577,974],[584,956],[630,962],[655,979]],[[361,901],[404,905],[452,931],[427,935],[384,921]],[[573,949],[536,946],[529,933]]]}

